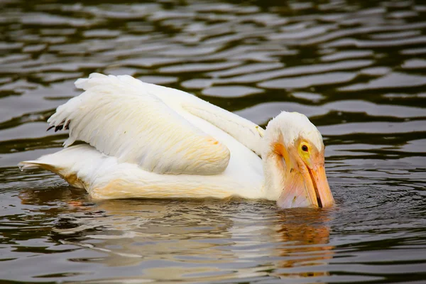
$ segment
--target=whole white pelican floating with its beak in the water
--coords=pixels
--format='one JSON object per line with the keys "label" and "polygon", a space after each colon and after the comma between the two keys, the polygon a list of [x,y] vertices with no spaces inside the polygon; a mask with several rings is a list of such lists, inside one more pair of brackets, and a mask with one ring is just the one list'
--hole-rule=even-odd
{"label": "whole white pelican floating with its beak in the water", "polygon": [[[19,163],[60,175],[97,200],[239,196],[278,206],[330,207],[324,143],[306,116],[266,130],[192,94],[131,76],[94,73],[48,123],[65,148]],[[75,141],[87,144],[70,146]],[[259,155],[261,158],[259,158]]]}

